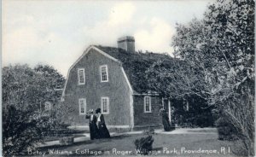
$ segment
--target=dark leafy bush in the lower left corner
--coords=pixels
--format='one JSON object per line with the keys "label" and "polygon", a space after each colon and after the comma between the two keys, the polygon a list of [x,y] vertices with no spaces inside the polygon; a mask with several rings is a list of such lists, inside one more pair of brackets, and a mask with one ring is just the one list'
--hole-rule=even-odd
{"label": "dark leafy bush in the lower left corner", "polygon": [[42,142],[49,128],[47,119],[32,117],[32,109],[8,106],[3,110],[3,155],[20,154],[34,142]]}

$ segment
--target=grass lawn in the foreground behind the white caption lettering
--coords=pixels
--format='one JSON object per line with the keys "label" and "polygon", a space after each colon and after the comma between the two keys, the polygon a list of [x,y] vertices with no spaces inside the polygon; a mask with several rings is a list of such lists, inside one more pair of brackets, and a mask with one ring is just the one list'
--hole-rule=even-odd
{"label": "grass lawn in the foreground behind the white caption lettering", "polygon": [[[38,153],[44,156],[125,156],[139,155],[136,153],[134,141],[139,137],[145,137],[142,134],[121,135],[111,139],[101,139],[94,141],[76,142],[72,146],[54,146],[48,148],[38,148]],[[192,134],[156,134],[154,135],[154,156],[236,156],[232,153],[233,142],[219,141],[217,132],[193,132]],[[114,151],[113,148],[120,151]],[[191,151],[201,148],[202,150],[216,151],[216,153],[192,153]],[[221,151],[221,148],[224,148]],[[230,148],[230,153],[228,152]],[[166,151],[163,151],[167,149]],[[181,151],[183,149],[183,151]],[[49,150],[55,154],[49,154]],[[84,152],[86,154],[84,154]],[[89,152],[90,151],[90,152]],[[99,151],[101,154],[99,154]],[[104,154],[109,151],[109,154]],[[123,151],[123,152],[122,152]],[[131,151],[128,153],[127,151]],[[189,152],[190,151],[190,152]],[[36,154],[36,152],[34,152]],[[225,154],[224,154],[225,153]],[[42,154],[35,156],[43,156]]]}

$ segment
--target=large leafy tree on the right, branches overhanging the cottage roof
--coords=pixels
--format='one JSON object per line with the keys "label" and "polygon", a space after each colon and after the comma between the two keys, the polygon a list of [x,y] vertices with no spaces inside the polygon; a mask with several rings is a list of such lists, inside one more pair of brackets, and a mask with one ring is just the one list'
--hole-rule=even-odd
{"label": "large leafy tree on the right, branches overhanging the cottage roof", "polygon": [[148,69],[160,80],[152,81],[155,90],[200,96],[216,108],[235,126],[248,155],[254,143],[254,6],[253,0],[217,0],[203,20],[177,25],[177,66],[162,68],[164,61],[158,61]]}

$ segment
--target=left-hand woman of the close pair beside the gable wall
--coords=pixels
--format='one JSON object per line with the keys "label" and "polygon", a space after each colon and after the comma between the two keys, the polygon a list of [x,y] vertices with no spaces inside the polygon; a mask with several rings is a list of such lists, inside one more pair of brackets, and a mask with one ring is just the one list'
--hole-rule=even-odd
{"label": "left-hand woman of the close pair beside the gable wall", "polygon": [[89,128],[90,128],[90,139],[98,139],[100,137],[99,130],[96,125],[96,115],[93,113],[93,109],[88,111],[89,114],[86,114],[86,119],[89,119]]}

